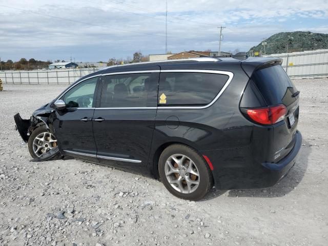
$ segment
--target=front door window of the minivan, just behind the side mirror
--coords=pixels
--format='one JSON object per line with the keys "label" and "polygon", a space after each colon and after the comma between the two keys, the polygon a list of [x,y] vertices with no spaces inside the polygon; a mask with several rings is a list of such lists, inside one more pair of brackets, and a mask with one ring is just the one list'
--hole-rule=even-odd
{"label": "front door window of the minivan, just behind the side mirror", "polygon": [[63,100],[68,108],[92,108],[98,77],[87,79],[65,93]]}

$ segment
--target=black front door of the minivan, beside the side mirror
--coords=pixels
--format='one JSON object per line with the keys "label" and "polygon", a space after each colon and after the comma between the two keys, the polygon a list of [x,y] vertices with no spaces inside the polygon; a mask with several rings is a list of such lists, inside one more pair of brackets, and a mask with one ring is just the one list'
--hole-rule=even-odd
{"label": "black front door of the minivan, beside the side mirror", "polygon": [[59,98],[65,101],[66,109],[55,111],[53,126],[58,146],[66,155],[97,161],[92,117],[98,78],[80,82]]}

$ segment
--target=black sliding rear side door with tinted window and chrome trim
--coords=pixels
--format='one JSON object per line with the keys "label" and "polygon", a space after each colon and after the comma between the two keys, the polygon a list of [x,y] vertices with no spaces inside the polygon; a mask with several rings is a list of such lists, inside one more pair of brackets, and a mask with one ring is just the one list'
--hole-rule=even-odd
{"label": "black sliding rear side door with tinted window and chrome trim", "polygon": [[[157,111],[158,71],[102,76],[93,116],[101,163],[148,173]],[[99,87],[100,88],[100,87]]]}

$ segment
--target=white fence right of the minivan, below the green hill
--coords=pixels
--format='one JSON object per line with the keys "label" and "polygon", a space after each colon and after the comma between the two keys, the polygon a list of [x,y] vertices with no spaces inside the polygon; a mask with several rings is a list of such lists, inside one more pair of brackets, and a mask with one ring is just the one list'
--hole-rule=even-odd
{"label": "white fence right of the minivan, below the green hill", "polygon": [[272,54],[265,57],[282,58],[282,67],[291,78],[328,77],[328,49]]}

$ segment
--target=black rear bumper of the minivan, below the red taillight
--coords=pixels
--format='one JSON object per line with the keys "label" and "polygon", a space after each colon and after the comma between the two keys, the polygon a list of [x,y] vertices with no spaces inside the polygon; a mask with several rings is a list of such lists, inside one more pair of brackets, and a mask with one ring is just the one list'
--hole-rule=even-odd
{"label": "black rear bumper of the minivan, below the red taillight", "polygon": [[295,133],[295,145],[291,152],[277,163],[256,162],[250,146],[203,151],[213,163],[215,187],[219,190],[260,189],[274,186],[295,165],[302,145],[302,135]]}

